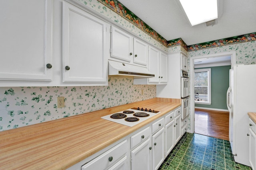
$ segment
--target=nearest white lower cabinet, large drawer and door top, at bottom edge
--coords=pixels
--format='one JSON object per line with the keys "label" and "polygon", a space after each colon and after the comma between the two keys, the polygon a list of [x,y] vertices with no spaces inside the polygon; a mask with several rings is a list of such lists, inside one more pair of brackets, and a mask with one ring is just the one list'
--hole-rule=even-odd
{"label": "nearest white lower cabinet, large drawer and door top, at bottom edge", "polygon": [[127,152],[128,142],[127,140],[124,140],[100,156],[84,164],[82,170],[103,170],[108,169],[110,166],[110,169],[122,169],[123,166],[126,166],[127,159],[121,159],[121,162],[118,160],[120,160],[120,158],[125,158]]}

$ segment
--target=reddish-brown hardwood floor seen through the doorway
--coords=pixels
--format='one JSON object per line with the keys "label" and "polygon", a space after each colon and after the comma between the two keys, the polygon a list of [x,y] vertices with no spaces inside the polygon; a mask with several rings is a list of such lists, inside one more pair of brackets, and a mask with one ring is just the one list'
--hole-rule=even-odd
{"label": "reddish-brown hardwood floor seen through the doorway", "polygon": [[228,139],[229,112],[195,109],[195,133]]}

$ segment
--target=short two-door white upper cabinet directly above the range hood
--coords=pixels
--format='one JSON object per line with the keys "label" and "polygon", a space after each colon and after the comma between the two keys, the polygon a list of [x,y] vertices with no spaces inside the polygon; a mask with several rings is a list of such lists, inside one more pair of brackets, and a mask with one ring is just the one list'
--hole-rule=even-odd
{"label": "short two-door white upper cabinet directly above the range hood", "polygon": [[148,44],[132,35],[111,27],[111,59],[148,67]]}

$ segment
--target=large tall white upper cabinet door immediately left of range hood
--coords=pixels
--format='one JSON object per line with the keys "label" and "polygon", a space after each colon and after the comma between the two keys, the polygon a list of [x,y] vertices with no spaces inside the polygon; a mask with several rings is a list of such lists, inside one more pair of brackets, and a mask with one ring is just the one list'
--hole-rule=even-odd
{"label": "large tall white upper cabinet door immediately left of range hood", "polygon": [[106,82],[106,23],[63,2],[63,82]]}

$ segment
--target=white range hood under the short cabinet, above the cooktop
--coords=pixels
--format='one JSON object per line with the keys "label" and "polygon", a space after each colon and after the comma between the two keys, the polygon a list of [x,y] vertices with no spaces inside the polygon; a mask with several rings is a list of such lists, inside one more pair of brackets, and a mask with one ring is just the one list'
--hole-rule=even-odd
{"label": "white range hood under the short cabinet, above the cooktop", "polygon": [[112,60],[108,60],[108,75],[134,78],[151,78],[155,76],[145,67]]}

